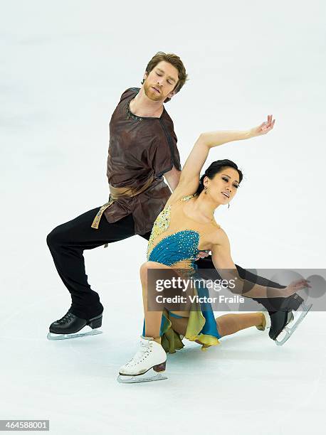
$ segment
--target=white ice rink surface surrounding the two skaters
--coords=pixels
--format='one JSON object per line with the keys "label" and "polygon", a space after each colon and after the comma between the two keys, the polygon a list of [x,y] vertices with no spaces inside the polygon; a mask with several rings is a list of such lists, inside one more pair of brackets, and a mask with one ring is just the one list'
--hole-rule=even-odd
{"label": "white ice rink surface surrounding the two skaters", "polygon": [[[216,221],[246,268],[325,267],[325,4],[11,1],[1,13],[0,419],[49,419],[53,435],[325,432],[325,313],[284,346],[250,328],[168,355],[168,380],[120,385],[142,332],[132,237],[85,252],[103,333],[48,341],[70,306],[46,235],[108,198],[107,124],[149,59],[189,73],[166,104],[182,164],[201,131],[273,131],[214,149],[245,175]],[[259,307],[258,307],[259,309]],[[218,314],[218,313],[216,313]]]}

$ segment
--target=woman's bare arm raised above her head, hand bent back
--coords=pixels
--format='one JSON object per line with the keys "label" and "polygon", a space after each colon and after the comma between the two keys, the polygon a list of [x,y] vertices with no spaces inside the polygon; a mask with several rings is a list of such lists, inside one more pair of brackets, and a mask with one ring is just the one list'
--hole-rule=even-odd
{"label": "woman's bare arm raised above her head, hand bent back", "polygon": [[180,181],[177,188],[170,196],[168,203],[182,198],[184,195],[191,195],[196,193],[199,186],[199,176],[201,169],[209,155],[209,150],[214,146],[227,144],[232,141],[240,141],[243,139],[251,139],[252,137],[261,136],[268,133],[273,129],[275,119],[273,115],[268,115],[267,122],[263,122],[258,127],[248,130],[218,130],[218,131],[206,131],[201,133],[196,140],[193,149],[191,150],[180,176]]}

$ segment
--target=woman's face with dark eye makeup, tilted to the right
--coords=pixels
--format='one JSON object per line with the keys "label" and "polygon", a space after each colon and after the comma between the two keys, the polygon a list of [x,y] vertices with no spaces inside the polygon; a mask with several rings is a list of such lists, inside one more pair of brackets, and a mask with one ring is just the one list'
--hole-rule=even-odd
{"label": "woman's face with dark eye makeup, tilted to the right", "polygon": [[205,177],[204,186],[207,187],[207,194],[211,195],[216,203],[228,204],[238,190],[238,171],[233,168],[223,168],[212,180]]}

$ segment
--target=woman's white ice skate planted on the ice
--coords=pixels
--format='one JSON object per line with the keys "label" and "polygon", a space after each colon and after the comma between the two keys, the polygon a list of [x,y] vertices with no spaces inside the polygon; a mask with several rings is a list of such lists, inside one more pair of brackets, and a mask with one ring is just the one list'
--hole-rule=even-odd
{"label": "woman's white ice skate planted on the ice", "polygon": [[167,379],[162,375],[165,371],[167,354],[162,345],[154,341],[152,337],[140,339],[140,350],[127,364],[119,370],[117,381],[122,384],[134,382],[149,382]]}

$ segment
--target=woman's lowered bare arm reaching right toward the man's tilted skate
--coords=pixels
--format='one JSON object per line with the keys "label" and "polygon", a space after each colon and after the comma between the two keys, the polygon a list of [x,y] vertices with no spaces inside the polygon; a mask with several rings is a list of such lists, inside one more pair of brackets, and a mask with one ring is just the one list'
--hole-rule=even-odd
{"label": "woman's lowered bare arm reaching right toward the man's tilted skate", "polygon": [[285,289],[277,289],[275,287],[261,286],[260,284],[253,284],[251,281],[242,279],[238,274],[236,265],[231,258],[230,242],[226,232],[219,228],[214,236],[213,248],[211,249],[211,259],[217,272],[221,275],[222,279],[234,283],[234,288],[229,289],[232,293],[241,294],[249,298],[284,298],[295,294],[296,291],[310,288],[309,281],[300,279],[293,281]]}

